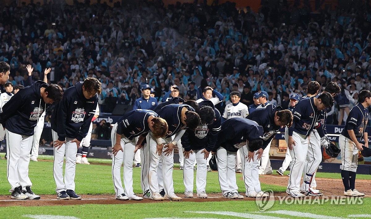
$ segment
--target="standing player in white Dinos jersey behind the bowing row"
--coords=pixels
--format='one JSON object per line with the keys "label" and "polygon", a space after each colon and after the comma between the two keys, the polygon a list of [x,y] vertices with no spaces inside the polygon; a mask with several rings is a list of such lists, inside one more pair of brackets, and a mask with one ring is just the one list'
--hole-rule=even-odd
{"label": "standing player in white Dinos jersey behind the bowing row", "polygon": [[[249,108],[240,102],[241,93],[233,91],[230,93],[230,100],[232,103],[228,104],[224,109],[221,122],[232,118],[245,118],[247,115],[249,115]],[[236,155],[236,173],[242,173],[242,163],[239,152],[237,152]]]}

